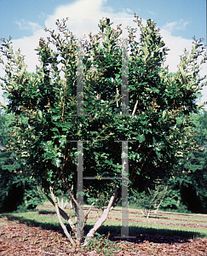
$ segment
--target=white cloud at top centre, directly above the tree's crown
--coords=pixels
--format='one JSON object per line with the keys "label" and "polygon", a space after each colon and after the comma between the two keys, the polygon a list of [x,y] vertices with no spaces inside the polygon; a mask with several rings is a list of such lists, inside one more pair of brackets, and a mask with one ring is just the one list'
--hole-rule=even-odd
{"label": "white cloud at top centre, directly above the tree's crown", "polygon": [[[74,3],[62,5],[55,9],[53,15],[49,15],[49,18],[45,21],[45,26],[55,29],[55,20],[62,20],[69,17],[66,23],[68,29],[79,38],[83,33],[88,35],[89,32],[99,32],[98,23],[102,17],[110,18],[111,21],[119,17],[131,18],[131,20],[133,20],[134,15],[127,13],[127,11],[130,11],[129,9],[127,9],[127,11],[124,10],[114,13],[113,9],[106,6],[104,3],[106,3],[106,1],[103,0],[78,0]],[[120,23],[119,21],[121,20],[116,20],[116,24]],[[82,27],[82,32],[78,30],[78,26]]]}

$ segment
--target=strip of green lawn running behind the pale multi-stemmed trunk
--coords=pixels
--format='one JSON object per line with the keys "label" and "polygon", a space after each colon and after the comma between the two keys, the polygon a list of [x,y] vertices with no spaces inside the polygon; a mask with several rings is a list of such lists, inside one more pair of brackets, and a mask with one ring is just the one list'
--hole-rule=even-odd
{"label": "strip of green lawn running behind the pale multi-stemmed trunk", "polygon": [[[89,206],[84,206],[89,207]],[[121,207],[116,207],[112,212],[110,212],[109,217],[111,218],[121,218]],[[181,218],[181,220],[169,220],[172,218],[172,213],[169,214],[167,212],[158,212],[156,215],[152,214],[150,218],[144,218],[141,215],[140,210],[135,210],[129,208],[132,212],[137,212],[136,214],[129,213],[129,219],[133,218],[135,220],[144,220],[144,223],[141,222],[129,222],[129,236],[137,235],[137,234],[160,234],[160,235],[170,235],[170,236],[186,236],[189,238],[196,238],[196,237],[207,237],[207,229],[206,228],[192,228],[187,226],[179,226],[179,225],[165,225],[159,224],[159,222],[166,222],[166,223],[173,223],[173,224],[180,224],[180,223],[187,223],[187,224],[196,224],[195,220],[197,220],[197,224],[204,224],[207,225],[207,216],[199,214],[198,218],[196,218],[195,214],[176,214],[175,218]],[[71,209],[66,209],[66,212],[72,212]],[[21,213],[4,213],[0,216],[3,218],[9,218],[20,223],[25,223],[28,225],[35,225],[39,226],[43,229],[52,229],[52,230],[60,230],[60,224],[58,222],[58,218],[56,214],[54,216],[49,215],[49,213],[55,213],[55,207],[53,207],[48,201],[44,203],[43,206],[37,207],[37,210],[34,212],[21,212]],[[101,211],[99,212],[101,213]],[[97,211],[93,209],[90,216],[97,216]],[[159,219],[165,218],[165,219]],[[96,219],[88,219],[87,224],[85,226],[85,230],[89,230],[94,224]],[[184,221],[187,220],[187,221]],[[205,221],[200,222],[199,221]],[[152,223],[156,222],[156,223]],[[64,221],[66,224],[66,221]],[[107,219],[106,222],[101,226],[98,230],[100,234],[107,234],[108,231],[121,232],[121,222],[119,220],[110,220]]]}

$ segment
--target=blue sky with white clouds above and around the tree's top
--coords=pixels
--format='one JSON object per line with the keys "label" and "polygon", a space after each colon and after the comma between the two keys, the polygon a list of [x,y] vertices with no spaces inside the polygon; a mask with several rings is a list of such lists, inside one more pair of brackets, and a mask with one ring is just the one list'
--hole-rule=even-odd
{"label": "blue sky with white clouds above and around the tree's top", "polygon": [[[191,51],[194,36],[204,38],[206,44],[206,0],[0,0],[0,6],[0,38],[12,38],[14,50],[20,49],[25,55],[28,72],[35,72],[38,65],[34,49],[39,38],[49,36],[44,28],[55,29],[55,20],[66,17],[69,17],[67,27],[78,37],[99,32],[102,17],[110,18],[114,28],[122,22],[124,26],[137,27],[134,13],[143,22],[154,20],[170,49],[166,60],[170,72],[177,71],[184,49]],[[200,72],[201,76],[204,74],[207,74],[206,63]],[[201,93],[199,103],[207,102],[207,85]],[[0,102],[4,102],[2,94],[0,90]]]}

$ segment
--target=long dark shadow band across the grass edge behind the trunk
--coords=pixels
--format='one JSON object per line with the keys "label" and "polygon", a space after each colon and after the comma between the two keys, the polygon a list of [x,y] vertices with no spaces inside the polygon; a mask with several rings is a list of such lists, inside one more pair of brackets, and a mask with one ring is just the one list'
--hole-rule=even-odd
{"label": "long dark shadow band across the grass edge behind the trunk", "polygon": [[[47,212],[47,211],[43,211],[43,212]],[[26,224],[32,227],[39,227],[44,230],[58,231],[61,234],[63,234],[63,236],[65,236],[63,230],[61,230],[60,228],[60,224],[58,223],[57,224],[41,223],[41,222],[35,221],[34,219],[13,216],[11,214],[2,214],[2,215],[3,217],[8,218],[9,220],[17,221],[20,224]],[[89,225],[89,224],[85,225],[84,236],[86,236],[86,234],[92,227],[93,225]],[[69,225],[67,225],[67,229],[69,232],[71,231],[71,228]],[[129,237],[127,239],[124,239],[123,237],[120,237],[121,226],[118,228],[118,226],[114,226],[114,225],[103,225],[99,230],[97,230],[97,233],[99,233],[100,235],[108,236],[109,240],[111,241],[132,241],[135,243],[140,243],[142,241],[149,241],[149,242],[170,243],[170,244],[174,242],[185,243],[189,239],[206,236],[204,233],[200,233],[200,232],[190,232],[190,231],[183,231],[183,230],[164,230],[164,229],[130,226],[129,236],[135,236],[135,237],[134,238]],[[118,236],[119,238],[117,238],[116,236]]]}

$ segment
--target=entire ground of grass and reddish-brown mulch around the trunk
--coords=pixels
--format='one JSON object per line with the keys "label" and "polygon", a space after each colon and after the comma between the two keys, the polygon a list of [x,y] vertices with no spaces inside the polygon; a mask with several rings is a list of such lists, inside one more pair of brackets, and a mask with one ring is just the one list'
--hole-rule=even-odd
{"label": "entire ground of grass and reddish-brown mulch around the trunk", "polygon": [[[84,211],[88,208],[87,205],[83,206]],[[141,210],[129,208],[129,236],[135,238],[123,240],[116,238],[121,236],[121,210],[121,207],[112,210],[106,222],[97,230],[100,235],[109,235],[108,238],[95,236],[89,246],[81,248],[81,254],[79,248],[71,247],[61,230],[55,207],[48,201],[33,212],[0,214],[0,254],[78,256],[89,255],[90,251],[100,256],[138,255],[136,252],[145,256],[206,255],[207,215],[158,212],[146,218]],[[72,209],[66,208],[66,212],[72,213]],[[101,211],[97,209],[91,210],[84,235],[100,214]]]}

